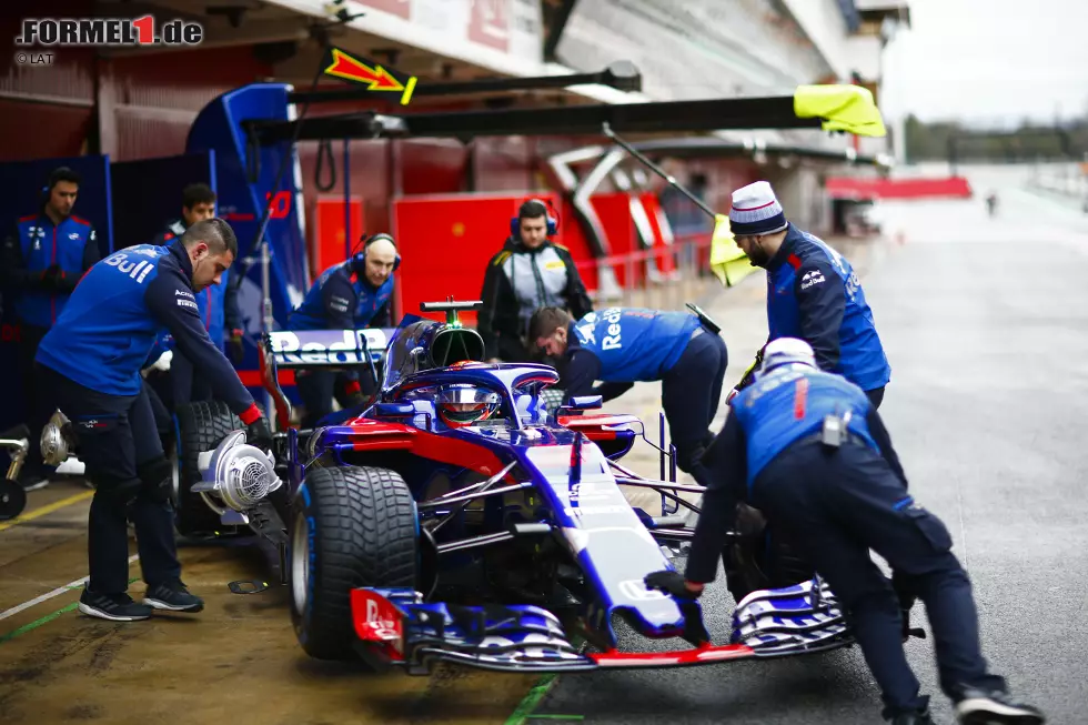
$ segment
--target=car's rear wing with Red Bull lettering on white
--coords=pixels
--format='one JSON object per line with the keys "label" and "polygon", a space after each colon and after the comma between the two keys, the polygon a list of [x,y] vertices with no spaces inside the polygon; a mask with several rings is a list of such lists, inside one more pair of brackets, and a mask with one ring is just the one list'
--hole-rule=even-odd
{"label": "car's rear wing with Red Bull lettering on white", "polygon": [[380,380],[379,366],[396,328],[363,330],[279,330],[264,334],[260,350],[264,390],[275,403],[276,423],[285,431],[291,402],[280,387],[281,370],[342,369],[365,365]]}

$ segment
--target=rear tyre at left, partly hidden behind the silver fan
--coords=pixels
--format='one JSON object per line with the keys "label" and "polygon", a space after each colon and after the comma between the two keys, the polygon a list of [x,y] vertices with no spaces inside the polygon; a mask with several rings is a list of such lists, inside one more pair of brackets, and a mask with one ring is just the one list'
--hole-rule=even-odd
{"label": "rear tyre at left, partly hidden behind the silver fan", "polygon": [[213,533],[222,526],[219,515],[208,507],[192,487],[200,482],[197,456],[214,451],[231,431],[245,427],[220,401],[199,401],[180,405],[174,414],[174,508],[178,533],[191,536]]}

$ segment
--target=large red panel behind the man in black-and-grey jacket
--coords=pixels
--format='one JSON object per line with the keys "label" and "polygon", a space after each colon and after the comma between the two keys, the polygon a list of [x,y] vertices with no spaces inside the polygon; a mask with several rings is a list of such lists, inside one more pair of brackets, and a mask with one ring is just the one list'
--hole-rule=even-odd
{"label": "large red panel behind the man in black-and-grey jacket", "polygon": [[[400,314],[422,314],[421,302],[436,302],[453,295],[456,300],[478,300],[484,270],[510,236],[510,220],[528,198],[551,200],[553,193],[538,194],[427,194],[405,197],[393,202],[393,235],[401,253],[396,274],[396,310]],[[565,219],[554,241],[564,240]],[[435,320],[443,315],[429,313]],[[474,312],[462,315],[475,324]]]}

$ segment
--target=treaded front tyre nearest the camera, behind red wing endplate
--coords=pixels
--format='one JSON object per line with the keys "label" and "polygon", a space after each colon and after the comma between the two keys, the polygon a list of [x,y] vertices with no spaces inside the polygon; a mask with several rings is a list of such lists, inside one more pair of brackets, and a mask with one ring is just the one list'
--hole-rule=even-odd
{"label": "treaded front tyre nearest the camera, behind red wing endplate", "polygon": [[414,587],[419,524],[412,492],[386,469],[315,467],[295,494],[291,522],[291,622],[306,654],[350,659],[356,640],[351,591]]}

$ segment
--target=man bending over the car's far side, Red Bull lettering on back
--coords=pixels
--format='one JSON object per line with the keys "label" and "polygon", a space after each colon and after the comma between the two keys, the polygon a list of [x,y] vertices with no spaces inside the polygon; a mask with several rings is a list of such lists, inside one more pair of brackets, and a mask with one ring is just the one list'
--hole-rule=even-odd
{"label": "man bending over the car's far side, Red Bull lettering on back", "polygon": [[[662,407],[676,446],[676,465],[702,481],[698,460],[714,440],[711,422],[728,363],[725,342],[687,312],[612,308],[574,321],[542,308],[530,336],[548,355],[564,356],[563,404],[581,395],[612,400],[636,381],[662,381]],[[594,381],[604,381],[594,387]],[[704,484],[705,485],[705,484]]]}

